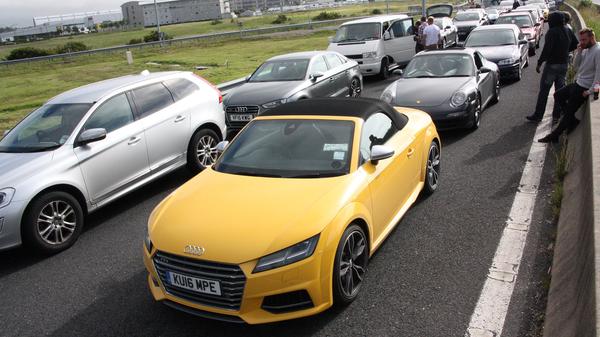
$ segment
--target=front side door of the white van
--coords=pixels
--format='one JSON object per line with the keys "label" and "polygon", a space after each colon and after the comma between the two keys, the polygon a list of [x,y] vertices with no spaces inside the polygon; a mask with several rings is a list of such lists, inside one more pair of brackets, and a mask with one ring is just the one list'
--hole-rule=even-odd
{"label": "front side door of the white van", "polygon": [[394,21],[388,31],[391,39],[384,41],[386,54],[392,56],[395,63],[408,63],[415,55],[413,19]]}

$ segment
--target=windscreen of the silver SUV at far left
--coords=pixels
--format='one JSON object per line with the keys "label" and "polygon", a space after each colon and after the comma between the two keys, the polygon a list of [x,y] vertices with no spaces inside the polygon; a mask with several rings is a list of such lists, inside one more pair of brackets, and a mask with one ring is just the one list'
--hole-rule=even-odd
{"label": "windscreen of the silver SUV at far left", "polygon": [[92,104],[46,104],[0,140],[0,152],[49,151],[64,144]]}

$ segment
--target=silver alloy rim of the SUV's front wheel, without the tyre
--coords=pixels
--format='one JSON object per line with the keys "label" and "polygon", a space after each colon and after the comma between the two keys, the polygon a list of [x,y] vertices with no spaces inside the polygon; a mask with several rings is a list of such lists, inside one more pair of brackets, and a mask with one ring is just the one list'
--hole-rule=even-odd
{"label": "silver alloy rim of the SUV's front wheel, without the tyre", "polygon": [[69,240],[77,226],[75,210],[67,202],[54,200],[42,207],[37,218],[40,238],[51,245]]}

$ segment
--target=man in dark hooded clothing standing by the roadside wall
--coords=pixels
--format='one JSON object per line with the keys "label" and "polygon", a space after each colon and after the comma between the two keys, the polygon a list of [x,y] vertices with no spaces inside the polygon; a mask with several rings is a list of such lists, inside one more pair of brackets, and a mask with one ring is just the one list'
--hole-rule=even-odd
{"label": "man in dark hooded clothing standing by the roadside wall", "polygon": [[[544,62],[544,72],[540,80],[540,92],[538,94],[537,104],[533,115],[527,116],[527,119],[533,122],[539,122],[544,117],[546,103],[550,88],[554,84],[554,90],[558,91],[565,86],[567,70],[569,69],[569,54],[577,49],[577,37],[573,31],[565,26],[564,16],[561,12],[553,12],[548,16],[548,25],[550,29],[546,33],[546,40],[542,54],[538,58],[538,64],[535,68],[539,73]],[[560,118],[560,106],[554,104],[552,118],[558,121]]]}

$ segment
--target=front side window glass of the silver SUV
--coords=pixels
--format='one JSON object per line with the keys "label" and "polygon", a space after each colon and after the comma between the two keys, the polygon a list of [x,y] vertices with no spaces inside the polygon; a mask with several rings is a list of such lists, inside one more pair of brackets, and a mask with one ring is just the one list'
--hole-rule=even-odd
{"label": "front side window glass of the silver SUV", "polygon": [[104,102],[85,122],[84,130],[102,128],[115,131],[133,122],[133,112],[125,94],[119,94]]}

